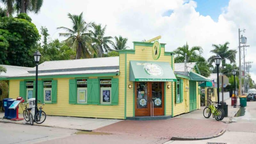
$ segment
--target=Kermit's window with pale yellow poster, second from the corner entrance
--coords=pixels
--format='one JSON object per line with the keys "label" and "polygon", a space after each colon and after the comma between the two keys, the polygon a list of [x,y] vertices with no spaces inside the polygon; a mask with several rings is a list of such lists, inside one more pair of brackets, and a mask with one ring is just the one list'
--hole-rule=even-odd
{"label": "Kermit's window with pale yellow poster, second from the corner entrance", "polygon": [[78,79],[76,80],[77,88],[77,103],[87,103],[87,80]]}

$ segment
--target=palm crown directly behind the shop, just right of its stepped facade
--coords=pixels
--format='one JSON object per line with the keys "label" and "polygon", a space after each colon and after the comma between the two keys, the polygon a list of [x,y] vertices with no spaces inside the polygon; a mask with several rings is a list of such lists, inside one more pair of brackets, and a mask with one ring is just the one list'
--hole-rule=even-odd
{"label": "palm crown directly behind the shop, just right of its stepped facade", "polygon": [[203,53],[203,49],[201,46],[193,46],[189,49],[188,43],[186,43],[182,47],[178,47],[176,50],[174,50],[174,52],[177,55],[174,62],[184,62],[185,54],[187,54],[187,62],[193,62],[197,61],[198,55]]}

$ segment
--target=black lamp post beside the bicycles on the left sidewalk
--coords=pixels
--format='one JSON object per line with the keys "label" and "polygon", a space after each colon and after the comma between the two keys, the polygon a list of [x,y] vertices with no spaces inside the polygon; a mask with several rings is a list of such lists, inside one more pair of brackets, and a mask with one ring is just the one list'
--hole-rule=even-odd
{"label": "black lamp post beside the bicycles on the left sidewalk", "polygon": [[35,58],[35,62],[36,62],[36,106],[35,106],[35,114],[34,114],[34,116],[36,116],[36,113],[37,113],[38,63],[40,61],[40,57],[41,57],[41,53],[38,50],[36,50],[36,52],[34,53],[34,58]]}

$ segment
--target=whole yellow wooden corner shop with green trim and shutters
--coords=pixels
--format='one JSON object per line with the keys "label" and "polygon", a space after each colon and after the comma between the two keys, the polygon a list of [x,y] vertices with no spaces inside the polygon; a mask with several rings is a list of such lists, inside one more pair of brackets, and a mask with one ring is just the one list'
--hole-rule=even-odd
{"label": "whole yellow wooden corner shop with green trim and shutters", "polygon": [[[119,51],[118,57],[40,64],[38,100],[45,103],[45,113],[142,120],[199,109],[197,80],[204,77],[194,69],[187,74],[174,73],[179,67],[175,68],[174,53],[165,52],[166,44],[158,38],[133,42],[133,49]],[[5,67],[7,73],[1,73],[0,80],[8,81],[9,97],[34,98],[35,68]]]}

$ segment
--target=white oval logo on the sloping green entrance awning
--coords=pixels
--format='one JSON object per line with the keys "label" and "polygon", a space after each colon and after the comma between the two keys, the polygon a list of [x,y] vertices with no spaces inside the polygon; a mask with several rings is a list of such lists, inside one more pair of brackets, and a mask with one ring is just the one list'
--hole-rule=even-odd
{"label": "white oval logo on the sloping green entrance awning", "polygon": [[144,71],[150,75],[150,76],[154,76],[154,77],[159,77],[163,75],[163,69],[154,63],[145,63],[144,65]]}

